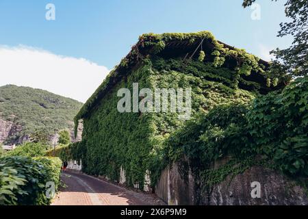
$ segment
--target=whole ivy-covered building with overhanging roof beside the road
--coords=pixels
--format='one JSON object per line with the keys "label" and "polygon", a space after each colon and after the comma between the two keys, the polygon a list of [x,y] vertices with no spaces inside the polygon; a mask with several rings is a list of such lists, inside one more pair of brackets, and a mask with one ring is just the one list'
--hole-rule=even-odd
{"label": "whole ivy-covered building with overhanging roof beside the road", "polygon": [[[118,112],[118,90],[132,90],[133,83],[139,89],[192,88],[191,120],[181,120],[179,112]],[[187,123],[220,105],[245,105],[283,86],[284,81],[270,75],[267,62],[216,40],[207,31],[144,34],[75,117],[76,129],[80,120],[84,123],[77,157],[90,175],[140,189],[151,181],[154,189],[162,170],[181,157],[185,160],[187,151],[194,153],[191,157],[203,156],[191,150],[193,146],[187,150],[181,144]],[[242,113],[239,108],[238,114]],[[181,140],[175,138],[179,131]],[[173,143],[177,149],[171,151]],[[185,165],[182,169],[185,172]]]}

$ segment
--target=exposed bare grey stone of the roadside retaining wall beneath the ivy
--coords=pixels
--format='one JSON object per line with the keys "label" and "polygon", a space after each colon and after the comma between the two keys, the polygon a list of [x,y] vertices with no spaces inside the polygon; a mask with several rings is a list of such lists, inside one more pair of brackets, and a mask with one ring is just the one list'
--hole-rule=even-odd
{"label": "exposed bare grey stone of the roadside retaining wall beneath the ivy", "polygon": [[[202,183],[192,175],[190,168],[184,171],[182,168],[185,168],[183,164],[168,166],[155,186],[155,194],[169,205],[308,205],[303,188],[261,166],[229,176],[211,191],[203,191]],[[256,188],[251,186],[253,182],[260,185],[260,198],[251,195]]]}

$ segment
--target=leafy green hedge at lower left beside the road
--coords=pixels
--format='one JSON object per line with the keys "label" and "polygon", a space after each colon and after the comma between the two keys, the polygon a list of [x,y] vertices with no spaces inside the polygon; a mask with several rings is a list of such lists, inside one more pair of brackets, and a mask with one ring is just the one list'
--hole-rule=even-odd
{"label": "leafy green hedge at lower left beside the road", "polygon": [[0,205],[49,205],[47,182],[60,183],[60,159],[51,157],[0,158]]}

